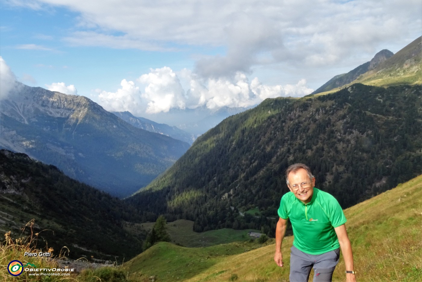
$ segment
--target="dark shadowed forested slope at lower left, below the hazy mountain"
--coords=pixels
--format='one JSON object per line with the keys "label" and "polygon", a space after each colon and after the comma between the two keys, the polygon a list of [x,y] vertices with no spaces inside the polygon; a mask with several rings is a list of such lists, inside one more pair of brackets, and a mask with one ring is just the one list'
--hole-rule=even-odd
{"label": "dark shadowed forested slope at lower left, below the hazy mountain", "polygon": [[38,248],[53,247],[54,255],[67,246],[67,257],[122,261],[142,251],[144,236],[123,228],[123,221],[140,221],[135,208],[69,178],[53,165],[0,150],[1,234],[28,235],[29,228],[21,228],[31,219],[33,233],[39,233]]}

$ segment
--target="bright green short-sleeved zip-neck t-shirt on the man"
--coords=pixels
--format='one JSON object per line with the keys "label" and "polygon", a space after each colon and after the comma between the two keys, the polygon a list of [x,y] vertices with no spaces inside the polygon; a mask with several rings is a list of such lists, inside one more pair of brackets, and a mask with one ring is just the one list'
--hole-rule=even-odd
{"label": "bright green short-sleeved zip-neck t-shirt on the man", "polygon": [[327,192],[314,188],[307,204],[288,192],[281,197],[278,214],[290,219],[295,236],[293,246],[302,252],[320,255],[340,246],[334,228],[344,224],[346,217],[337,200]]}

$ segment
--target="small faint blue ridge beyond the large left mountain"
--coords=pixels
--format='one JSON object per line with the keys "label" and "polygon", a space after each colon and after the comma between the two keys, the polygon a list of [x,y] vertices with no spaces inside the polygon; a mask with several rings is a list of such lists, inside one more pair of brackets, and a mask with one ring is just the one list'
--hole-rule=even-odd
{"label": "small faint blue ridge beyond the large left mountain", "polygon": [[135,117],[130,112],[112,112],[127,123],[132,124],[135,127],[144,129],[147,131],[155,132],[158,134],[164,134],[171,138],[187,142],[192,145],[196,137],[194,134],[187,133],[176,126],[169,126],[165,123],[156,123],[147,118]]}

